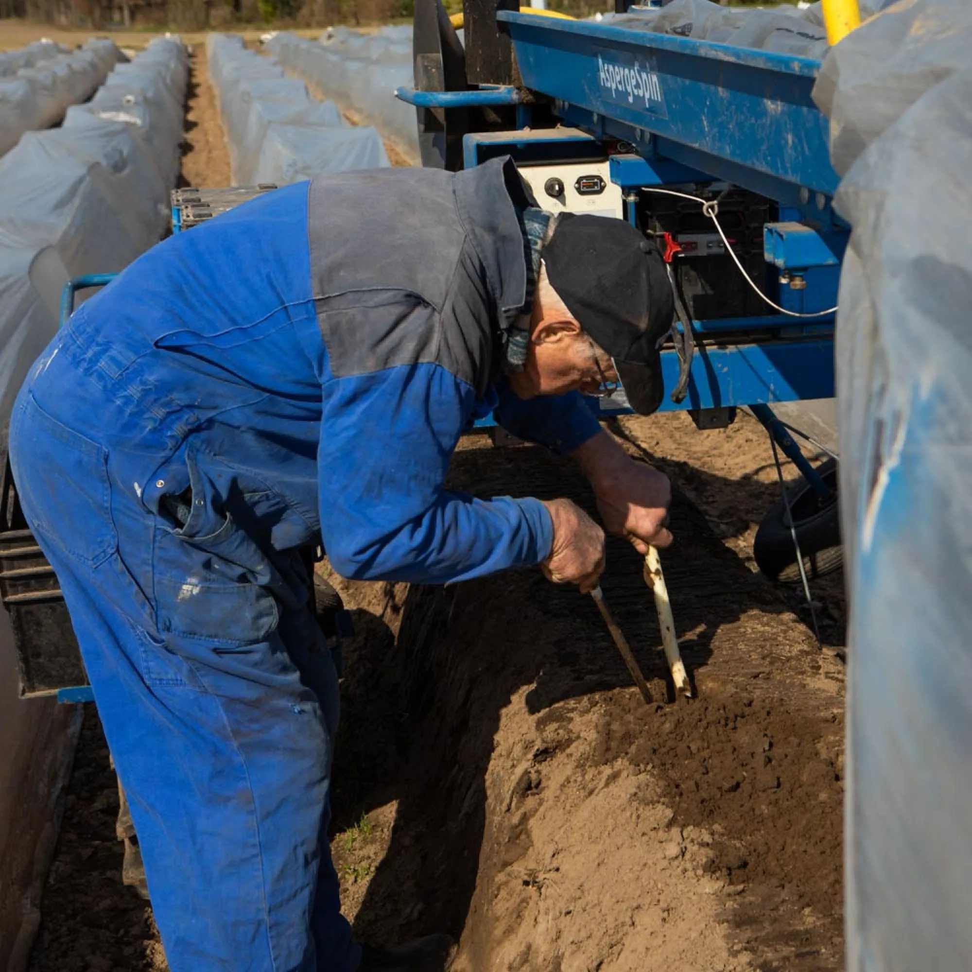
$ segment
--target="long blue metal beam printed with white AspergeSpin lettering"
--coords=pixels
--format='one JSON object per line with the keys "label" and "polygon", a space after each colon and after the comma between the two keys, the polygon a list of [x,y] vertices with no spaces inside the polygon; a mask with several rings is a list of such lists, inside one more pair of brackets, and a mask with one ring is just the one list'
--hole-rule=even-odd
{"label": "long blue metal beam printed with white AspergeSpin lettering", "polygon": [[524,85],[554,98],[565,121],[832,219],[839,177],[811,98],[818,61],[590,20],[497,18]]}

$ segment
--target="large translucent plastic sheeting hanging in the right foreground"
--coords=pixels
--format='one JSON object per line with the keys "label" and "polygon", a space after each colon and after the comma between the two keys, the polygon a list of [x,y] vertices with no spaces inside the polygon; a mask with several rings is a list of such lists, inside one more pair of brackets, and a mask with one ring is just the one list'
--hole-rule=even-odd
{"label": "large translucent plastic sheeting hanging in the right foreground", "polygon": [[972,5],[823,63],[851,222],[837,375],[851,599],[848,969],[972,968]]}

